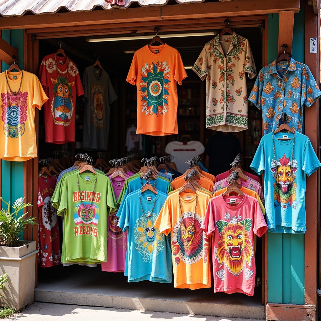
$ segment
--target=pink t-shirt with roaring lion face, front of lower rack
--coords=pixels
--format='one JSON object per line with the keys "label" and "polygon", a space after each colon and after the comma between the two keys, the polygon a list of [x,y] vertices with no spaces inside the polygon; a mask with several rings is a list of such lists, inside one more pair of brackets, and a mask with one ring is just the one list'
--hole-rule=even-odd
{"label": "pink t-shirt with roaring lion face, front of lower rack", "polygon": [[[228,204],[235,202],[233,204]],[[245,293],[253,296],[255,253],[253,233],[267,230],[260,205],[249,195],[211,199],[201,229],[212,239],[214,292]]]}

